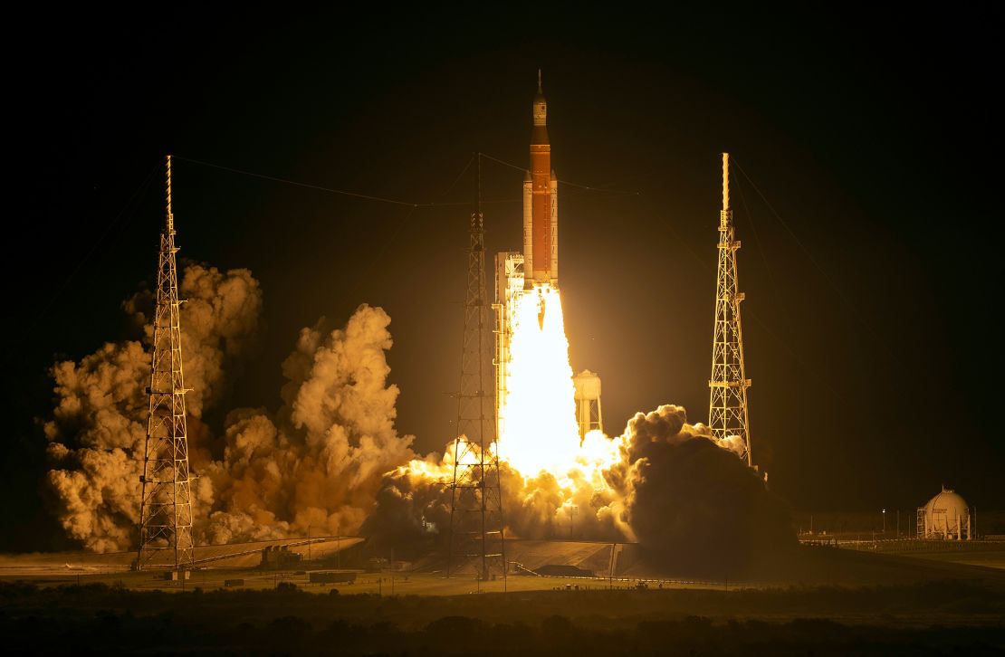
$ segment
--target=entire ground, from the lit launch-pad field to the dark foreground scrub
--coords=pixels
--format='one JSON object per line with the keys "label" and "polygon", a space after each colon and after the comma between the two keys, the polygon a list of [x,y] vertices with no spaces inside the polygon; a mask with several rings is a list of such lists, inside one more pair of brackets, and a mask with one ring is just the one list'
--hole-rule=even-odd
{"label": "entire ground, from the lit launch-pad field to the dark foreground scrub", "polygon": [[[126,554],[7,557],[0,560],[0,636],[12,652],[50,653],[1005,651],[1005,570],[944,559],[1001,559],[1005,550],[992,545],[936,551],[937,559],[925,551],[903,557],[801,545],[748,579],[659,573],[631,545],[618,549],[618,572],[606,578],[447,579],[442,561],[429,556],[395,563],[409,572],[384,563],[383,571],[356,569],[353,584],[311,584],[310,572],[365,556],[353,545],[358,541],[337,541],[341,554],[321,538],[310,546],[312,561],[275,571],[245,563],[260,561],[258,544],[218,546],[202,555],[213,561],[187,582],[165,580],[160,569],[130,571]],[[893,548],[884,544],[887,553]],[[308,545],[289,550],[307,553]],[[508,555],[529,569],[583,567],[609,564],[611,550],[589,541],[512,541]]]}

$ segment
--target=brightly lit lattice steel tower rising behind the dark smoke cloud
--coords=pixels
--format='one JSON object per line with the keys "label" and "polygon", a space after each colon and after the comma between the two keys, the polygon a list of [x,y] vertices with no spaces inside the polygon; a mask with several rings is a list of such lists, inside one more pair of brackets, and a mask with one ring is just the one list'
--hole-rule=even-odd
{"label": "brightly lit lattice steel tower rising behind the dark smoke cloud", "polygon": [[716,282],[716,327],[712,343],[712,379],[709,381],[709,427],[717,438],[738,436],[741,455],[751,464],[750,420],[747,389],[751,385],[744,369],[744,334],[737,290],[737,250],[730,209],[730,154],[723,154],[723,211],[719,215],[719,274]]}

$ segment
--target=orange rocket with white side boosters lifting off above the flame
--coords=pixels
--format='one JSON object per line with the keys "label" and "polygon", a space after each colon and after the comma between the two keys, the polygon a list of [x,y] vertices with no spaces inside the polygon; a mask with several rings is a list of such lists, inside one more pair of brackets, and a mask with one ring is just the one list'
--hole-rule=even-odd
{"label": "orange rocket with white side boosters lifting off above the flame", "polygon": [[524,177],[524,287],[559,283],[559,181],[548,143],[548,102],[541,88],[534,96],[531,169]]}

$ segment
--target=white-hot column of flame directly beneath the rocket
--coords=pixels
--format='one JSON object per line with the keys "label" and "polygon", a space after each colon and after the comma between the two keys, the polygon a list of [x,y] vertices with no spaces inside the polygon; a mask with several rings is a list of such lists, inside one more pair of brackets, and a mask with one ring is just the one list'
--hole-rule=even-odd
{"label": "white-hot column of flame directly beneath the rocket", "polygon": [[600,432],[580,445],[559,290],[536,285],[515,301],[499,457],[524,476],[547,470],[566,485],[588,480],[602,487],[600,470],[613,462],[616,450]]}

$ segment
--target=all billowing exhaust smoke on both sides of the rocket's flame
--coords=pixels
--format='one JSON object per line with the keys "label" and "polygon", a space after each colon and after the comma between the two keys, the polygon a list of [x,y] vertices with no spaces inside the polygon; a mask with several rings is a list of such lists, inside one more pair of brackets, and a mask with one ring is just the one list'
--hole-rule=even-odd
{"label": "all billowing exhaust smoke on both sides of the rocket's flame", "polygon": [[[225,399],[255,345],[261,292],[246,269],[198,264],[185,268],[180,291],[198,541],[360,530],[375,542],[443,544],[452,444],[419,459],[413,438],[397,434],[383,309],[364,304],[344,327],[323,318],[304,328],[282,363],[281,406],[232,410],[214,435],[202,416]],[[107,344],[52,368],[46,489],[67,535],[94,551],[134,546],[152,303],[147,294],[125,304],[145,343]],[[637,539],[655,562],[735,570],[793,539],[786,509],[737,458],[739,447],[687,424],[678,406],[637,414],[613,440],[589,434],[564,470],[520,472],[500,445],[508,534]]]}

